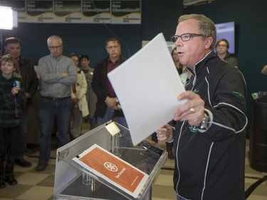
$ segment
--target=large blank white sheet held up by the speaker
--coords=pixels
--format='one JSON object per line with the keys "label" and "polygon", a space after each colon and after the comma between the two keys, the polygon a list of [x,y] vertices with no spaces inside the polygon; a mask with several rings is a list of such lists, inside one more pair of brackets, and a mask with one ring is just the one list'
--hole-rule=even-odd
{"label": "large blank white sheet held up by the speaker", "polygon": [[171,121],[185,100],[184,86],[162,33],[108,73],[124,112],[132,143],[142,142]]}

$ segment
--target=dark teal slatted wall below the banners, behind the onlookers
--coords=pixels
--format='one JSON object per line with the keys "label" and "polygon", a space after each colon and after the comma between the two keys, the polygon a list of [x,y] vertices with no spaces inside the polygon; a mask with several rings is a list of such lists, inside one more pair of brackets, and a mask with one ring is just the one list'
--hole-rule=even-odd
{"label": "dark teal slatted wall below the banners, behind the onlookers", "polygon": [[88,54],[90,65],[95,65],[108,56],[105,40],[110,37],[120,39],[122,56],[129,58],[141,48],[141,26],[120,24],[80,24],[80,23],[19,23],[14,30],[3,31],[3,38],[20,38],[22,56],[33,60],[49,54],[46,40],[51,35],[63,39],[63,54]]}

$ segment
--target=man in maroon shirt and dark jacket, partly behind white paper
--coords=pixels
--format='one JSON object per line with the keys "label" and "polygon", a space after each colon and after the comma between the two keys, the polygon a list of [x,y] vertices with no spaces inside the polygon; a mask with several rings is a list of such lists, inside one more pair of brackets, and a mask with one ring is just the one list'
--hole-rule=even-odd
{"label": "man in maroon shirt and dark jacket, partly behind white paper", "polygon": [[[118,124],[127,127],[120,102],[110,84],[110,80],[108,80],[108,73],[123,63],[125,58],[120,55],[120,41],[116,38],[108,38],[105,42],[105,48],[109,56],[96,65],[92,80],[93,91],[98,97],[95,110],[97,125],[102,125],[114,118]],[[122,146],[130,147],[130,135],[124,132],[121,134]]]}

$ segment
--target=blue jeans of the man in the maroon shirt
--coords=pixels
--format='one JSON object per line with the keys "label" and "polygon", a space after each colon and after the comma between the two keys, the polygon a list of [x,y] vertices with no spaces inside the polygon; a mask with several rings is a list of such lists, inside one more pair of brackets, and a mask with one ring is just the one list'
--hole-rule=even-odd
{"label": "blue jeans of the man in the maroon shirt", "polygon": [[[103,125],[105,122],[108,122],[109,120],[113,119],[114,110],[110,107],[107,107],[107,110],[105,110],[104,117],[98,117],[97,118],[97,125]],[[115,122],[122,125],[123,127],[128,128],[127,122],[125,117],[114,117]],[[130,136],[130,132],[120,132],[122,135],[122,147],[131,147],[132,146],[132,140]]]}

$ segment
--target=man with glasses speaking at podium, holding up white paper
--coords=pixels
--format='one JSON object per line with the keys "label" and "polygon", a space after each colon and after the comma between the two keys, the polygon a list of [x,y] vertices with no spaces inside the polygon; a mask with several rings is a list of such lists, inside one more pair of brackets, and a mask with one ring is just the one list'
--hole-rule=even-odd
{"label": "man with glasses speaking at podium, holding up white paper", "polygon": [[212,51],[216,28],[204,15],[180,16],[172,41],[192,73],[178,95],[188,101],[174,111],[176,127],[157,130],[159,141],[174,142],[177,199],[244,200],[244,76]]}

